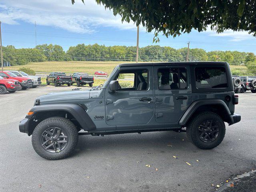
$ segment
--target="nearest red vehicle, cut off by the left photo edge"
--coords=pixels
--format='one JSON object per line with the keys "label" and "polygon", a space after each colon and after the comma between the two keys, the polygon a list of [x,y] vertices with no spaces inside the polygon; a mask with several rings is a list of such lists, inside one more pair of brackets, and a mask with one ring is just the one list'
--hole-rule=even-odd
{"label": "nearest red vehicle, cut off by the left photo edge", "polygon": [[4,79],[0,76],[0,95],[6,92],[14,93],[21,90],[20,82],[13,79]]}

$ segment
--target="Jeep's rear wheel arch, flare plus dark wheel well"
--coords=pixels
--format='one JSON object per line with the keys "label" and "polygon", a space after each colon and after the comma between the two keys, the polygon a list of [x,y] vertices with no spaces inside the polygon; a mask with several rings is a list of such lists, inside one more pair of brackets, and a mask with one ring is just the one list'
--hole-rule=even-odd
{"label": "Jeep's rear wheel arch, flare plus dark wheel well", "polygon": [[226,103],[222,100],[197,100],[193,102],[180,118],[179,124],[186,126],[200,112],[210,111],[218,114],[224,122],[232,123],[232,115]]}

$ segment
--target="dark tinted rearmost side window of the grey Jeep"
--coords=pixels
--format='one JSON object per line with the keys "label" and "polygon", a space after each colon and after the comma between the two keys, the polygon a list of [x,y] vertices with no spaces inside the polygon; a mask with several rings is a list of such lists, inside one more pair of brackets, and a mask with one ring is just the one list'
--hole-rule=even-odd
{"label": "dark tinted rearmost side window of the grey Jeep", "polygon": [[225,88],[228,87],[225,68],[196,67],[197,88]]}

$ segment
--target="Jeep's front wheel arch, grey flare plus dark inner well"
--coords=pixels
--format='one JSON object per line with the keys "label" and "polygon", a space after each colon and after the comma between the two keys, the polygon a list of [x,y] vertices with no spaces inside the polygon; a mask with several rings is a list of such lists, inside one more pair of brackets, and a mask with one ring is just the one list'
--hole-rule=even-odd
{"label": "Jeep's front wheel arch, grey flare plus dark inner well", "polygon": [[96,129],[86,110],[87,108],[84,104],[45,104],[34,106],[30,110],[34,113],[31,116],[26,116],[30,121],[25,132],[31,135],[34,128],[40,122],[53,116],[65,117],[73,122],[77,128],[85,131]]}

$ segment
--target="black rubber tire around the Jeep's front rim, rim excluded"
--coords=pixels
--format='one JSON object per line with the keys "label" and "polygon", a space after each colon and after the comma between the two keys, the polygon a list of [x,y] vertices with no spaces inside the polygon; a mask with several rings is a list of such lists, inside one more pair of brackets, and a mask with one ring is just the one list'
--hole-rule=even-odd
{"label": "black rubber tire around the Jeep's front rim, rim excluded", "polygon": [[[49,127],[58,127],[64,130],[68,136],[68,143],[66,147],[60,152],[48,152],[46,151],[40,142],[42,133],[47,130]],[[50,117],[42,122],[40,122],[33,131],[32,134],[32,146],[36,153],[42,158],[48,160],[58,160],[68,157],[74,149],[78,142],[78,131],[76,126],[68,119],[63,117]]]}

